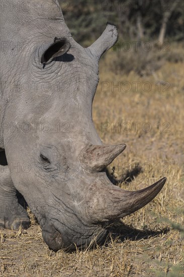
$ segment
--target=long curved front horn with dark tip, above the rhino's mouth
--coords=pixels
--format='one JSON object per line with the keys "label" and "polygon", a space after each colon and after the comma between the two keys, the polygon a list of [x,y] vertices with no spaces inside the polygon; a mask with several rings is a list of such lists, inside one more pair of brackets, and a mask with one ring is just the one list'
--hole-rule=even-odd
{"label": "long curved front horn with dark tip, above the rhino's mouth", "polygon": [[104,222],[128,216],[149,203],[162,189],[166,178],[137,191],[123,190],[109,179],[97,178],[87,195],[87,213],[91,222]]}

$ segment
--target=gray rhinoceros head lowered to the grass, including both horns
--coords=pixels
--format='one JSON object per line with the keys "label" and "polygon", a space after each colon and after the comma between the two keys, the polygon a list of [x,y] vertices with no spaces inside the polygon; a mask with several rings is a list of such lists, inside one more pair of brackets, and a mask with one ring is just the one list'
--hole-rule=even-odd
{"label": "gray rhinoceros head lowered to the grass, including both horns", "polygon": [[108,179],[105,168],[126,145],[103,145],[92,103],[98,62],[117,41],[117,28],[107,24],[101,37],[83,48],[72,38],[61,11],[58,17],[35,23],[30,40],[39,38],[39,47],[19,56],[15,76],[31,89],[21,86],[22,93],[8,107],[16,110],[20,132],[5,133],[9,165],[20,164],[12,180],[37,217],[45,242],[56,250],[86,246],[94,236],[100,243],[107,222],[143,207],[165,183],[163,178],[142,190],[126,191]]}

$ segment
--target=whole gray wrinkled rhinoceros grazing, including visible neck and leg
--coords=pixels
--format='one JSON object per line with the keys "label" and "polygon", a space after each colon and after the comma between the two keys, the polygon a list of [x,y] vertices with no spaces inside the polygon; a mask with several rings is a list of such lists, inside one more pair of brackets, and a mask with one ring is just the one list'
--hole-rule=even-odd
{"label": "whole gray wrinkled rhinoceros grazing, including visible neck and leg", "polygon": [[[126,192],[105,173],[126,146],[102,145],[91,110],[98,61],[116,42],[117,29],[107,25],[83,48],[71,37],[56,0],[47,1],[49,9],[43,0],[36,8],[32,1],[19,2],[24,6],[7,1],[1,7],[0,227],[29,227],[18,190],[50,248],[72,250],[94,236],[100,243],[104,223],[140,209],[165,182]],[[64,43],[51,52],[55,37]]]}

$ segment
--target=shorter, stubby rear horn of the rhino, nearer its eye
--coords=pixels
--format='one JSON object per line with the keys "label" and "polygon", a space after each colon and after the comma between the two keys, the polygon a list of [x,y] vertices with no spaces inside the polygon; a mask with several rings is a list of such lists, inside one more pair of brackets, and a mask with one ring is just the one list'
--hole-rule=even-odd
{"label": "shorter, stubby rear horn of the rhino, nearer its eye", "polygon": [[90,171],[102,171],[126,148],[125,144],[103,146],[89,145],[82,149],[79,160],[83,168]]}

